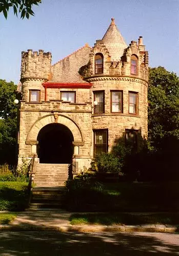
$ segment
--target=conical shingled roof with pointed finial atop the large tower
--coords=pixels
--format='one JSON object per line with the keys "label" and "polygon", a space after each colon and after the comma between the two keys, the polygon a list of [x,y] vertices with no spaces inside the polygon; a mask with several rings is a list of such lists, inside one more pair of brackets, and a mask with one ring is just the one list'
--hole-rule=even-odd
{"label": "conical shingled roof with pointed finial atop the large tower", "polygon": [[111,18],[111,20],[112,22],[103,36],[102,41],[109,51],[111,61],[120,61],[121,56],[124,54],[124,49],[127,48],[127,44],[116,27],[114,18]]}

